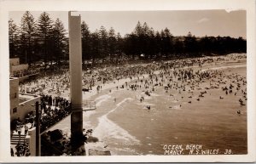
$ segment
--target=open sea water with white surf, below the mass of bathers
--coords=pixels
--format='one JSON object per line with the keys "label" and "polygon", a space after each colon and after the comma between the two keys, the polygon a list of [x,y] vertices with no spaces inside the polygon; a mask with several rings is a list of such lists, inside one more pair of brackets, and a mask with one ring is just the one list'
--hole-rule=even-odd
{"label": "open sea water with white surf, below the mass of bathers", "polygon": [[[222,70],[246,76],[243,66]],[[226,95],[219,87],[207,90],[198,101],[201,90],[166,93],[159,87],[151,96],[143,90],[113,88],[111,93],[107,89],[90,98],[96,100],[96,110],[84,112],[84,128],[92,128],[93,136],[108,145],[112,155],[165,155],[165,145],[177,144],[184,149],[182,155],[189,154],[185,150],[188,144],[200,144],[201,150],[218,150],[219,154],[226,150],[247,154],[247,105],[239,104],[241,93]],[[241,110],[240,115],[237,110]],[[67,118],[55,128],[68,132],[69,124]]]}

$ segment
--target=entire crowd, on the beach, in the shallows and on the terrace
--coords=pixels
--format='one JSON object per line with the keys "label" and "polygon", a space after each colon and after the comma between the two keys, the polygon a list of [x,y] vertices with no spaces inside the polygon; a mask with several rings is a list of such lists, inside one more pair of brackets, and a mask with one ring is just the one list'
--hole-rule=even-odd
{"label": "entire crowd, on the beach, in the shallows and on the terrace", "polygon": [[[203,68],[221,67],[223,63],[232,63],[239,59],[246,60],[246,54],[92,68],[89,71],[83,71],[83,91],[96,89],[99,93],[106,84],[112,83],[114,87],[110,88],[109,92],[114,88],[135,92],[140,89],[144,95],[139,98],[139,101],[143,102],[145,96],[150,96],[162,88],[172,98],[175,94],[174,99],[179,102],[184,101],[186,96],[186,99],[189,99],[186,100],[187,103],[191,104],[202,101],[210,93],[209,90],[219,89],[222,91],[219,93],[219,99],[224,99],[224,95],[232,94],[243,106],[247,104],[246,76],[229,73],[222,69],[203,70]],[[120,83],[120,80],[125,80],[125,82]],[[69,89],[70,79],[67,68],[60,68],[56,72],[51,72],[50,75],[45,74],[30,82],[20,84],[20,93],[41,95],[41,132],[71,113],[71,103],[68,100]],[[179,94],[181,96],[177,96]],[[146,109],[152,108],[146,105]],[[237,109],[237,114],[241,115],[240,109]],[[34,126],[34,119],[34,112],[26,116],[26,122],[30,122],[32,126]],[[19,122],[16,124],[21,125]]]}

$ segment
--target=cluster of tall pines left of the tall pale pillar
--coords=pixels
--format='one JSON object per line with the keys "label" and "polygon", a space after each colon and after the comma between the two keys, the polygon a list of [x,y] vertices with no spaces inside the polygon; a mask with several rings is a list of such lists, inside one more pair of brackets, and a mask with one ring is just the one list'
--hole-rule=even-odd
{"label": "cluster of tall pines left of the tall pale pillar", "polygon": [[43,12],[36,21],[29,11],[21,17],[20,25],[9,20],[9,57],[19,57],[20,63],[57,62],[68,50],[66,30],[61,20],[55,21]]}

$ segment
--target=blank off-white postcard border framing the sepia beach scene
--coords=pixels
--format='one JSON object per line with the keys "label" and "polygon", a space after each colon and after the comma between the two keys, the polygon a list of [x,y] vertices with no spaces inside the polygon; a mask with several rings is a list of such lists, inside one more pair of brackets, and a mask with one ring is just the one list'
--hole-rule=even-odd
{"label": "blank off-white postcard border framing the sepia beach scene", "polygon": [[[217,156],[49,156],[11,157],[9,155],[9,11],[124,11],[124,10],[202,10],[247,11],[247,155]],[[255,161],[255,1],[254,0],[9,0],[0,2],[0,161],[4,162],[171,162],[171,161]]]}

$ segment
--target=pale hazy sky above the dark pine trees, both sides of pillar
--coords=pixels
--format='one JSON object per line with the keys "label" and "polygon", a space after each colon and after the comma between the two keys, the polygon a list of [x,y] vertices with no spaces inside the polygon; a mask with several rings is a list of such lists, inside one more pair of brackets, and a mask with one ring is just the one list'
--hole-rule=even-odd
{"label": "pale hazy sky above the dark pine trees, both sides of pillar", "polygon": [[[68,30],[67,11],[46,11],[50,18],[59,18]],[[9,12],[9,19],[20,25],[20,19],[25,11]],[[43,11],[31,11],[38,20]],[[173,36],[185,36],[189,33],[195,37],[243,37],[247,38],[246,11],[237,10],[179,10],[179,11],[79,11],[81,20],[89,26],[90,31],[96,31],[103,25],[107,30],[113,27],[121,36],[134,31],[137,22],[143,25],[147,22],[154,31],[166,27]]]}

